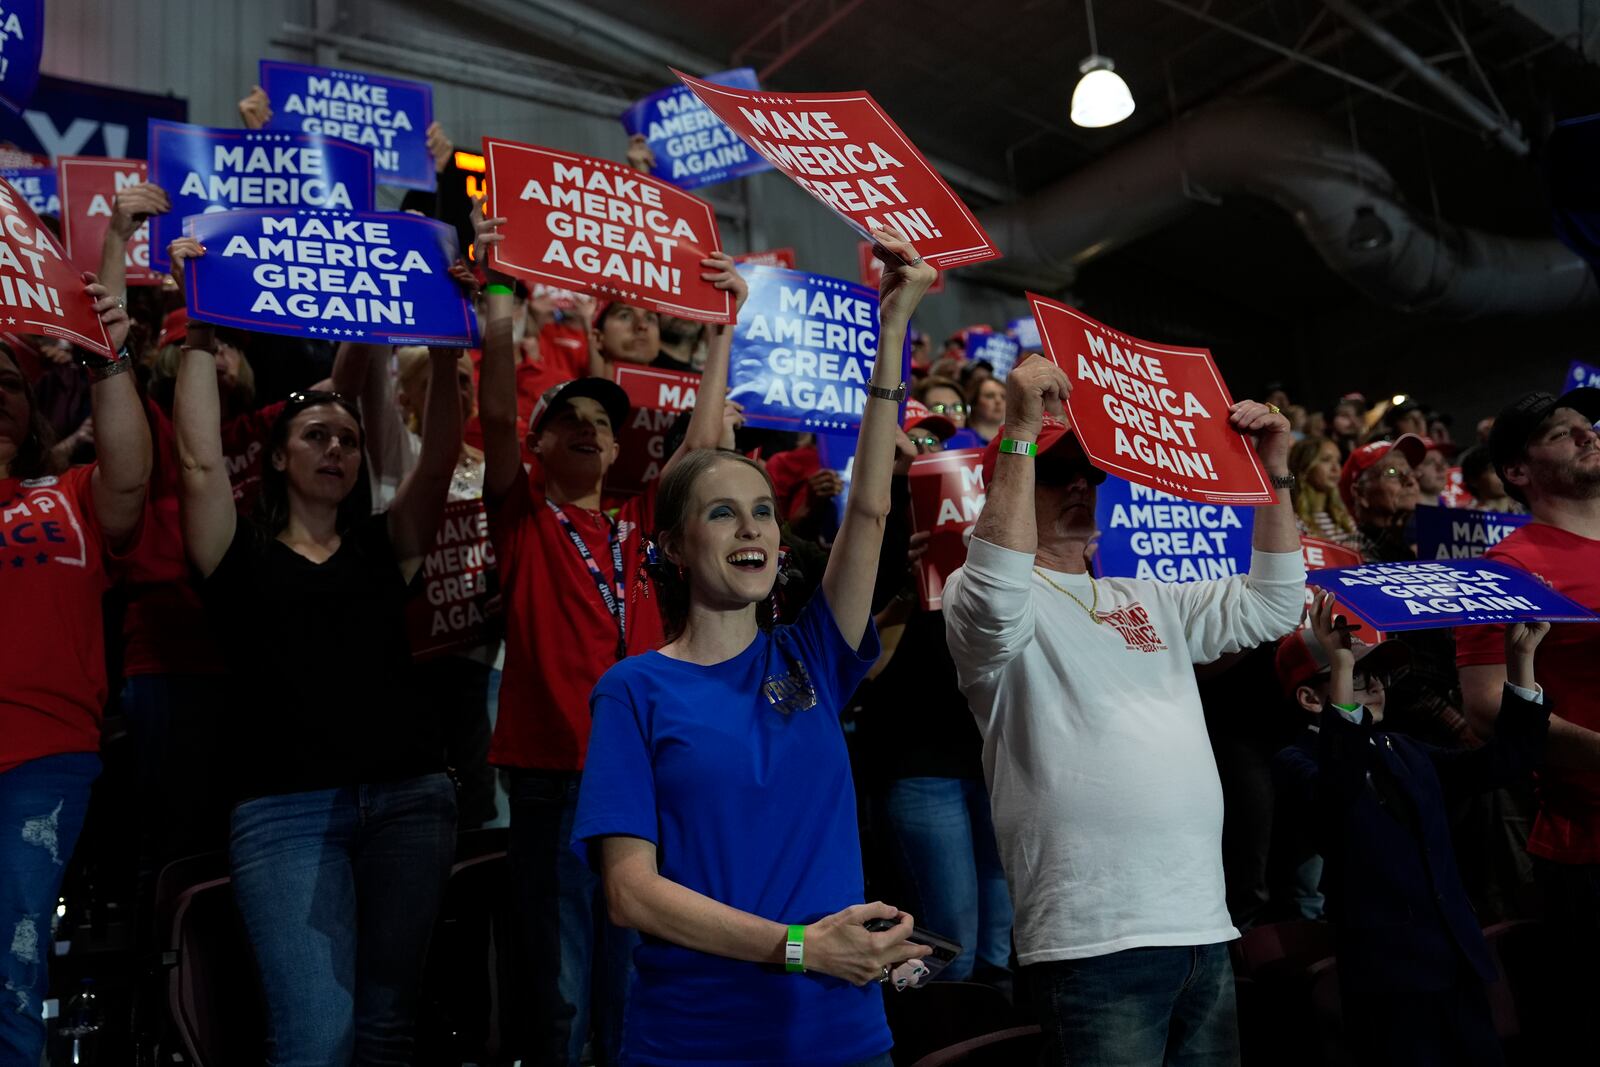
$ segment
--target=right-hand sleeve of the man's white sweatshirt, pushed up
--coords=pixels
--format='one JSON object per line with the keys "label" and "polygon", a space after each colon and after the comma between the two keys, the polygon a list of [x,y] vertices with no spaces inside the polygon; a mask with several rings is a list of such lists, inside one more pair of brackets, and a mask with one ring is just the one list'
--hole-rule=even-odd
{"label": "right-hand sleeve of the man's white sweatshirt, pushed up", "polygon": [[1184,624],[1194,662],[1275,641],[1299,625],[1306,560],[1299,552],[1251,552],[1250,573],[1214,582],[1163,585]]}

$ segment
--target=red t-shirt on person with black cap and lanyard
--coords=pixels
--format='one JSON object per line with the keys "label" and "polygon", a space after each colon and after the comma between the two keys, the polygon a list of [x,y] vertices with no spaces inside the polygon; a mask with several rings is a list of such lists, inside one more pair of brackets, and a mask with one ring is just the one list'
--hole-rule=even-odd
{"label": "red t-shirt on person with black cap and lanyard", "polygon": [[[589,752],[589,691],[616,662],[616,621],[542,490],[517,478],[510,493],[486,504],[506,605],[506,667],[490,763],[579,771]],[[616,515],[630,656],[664,643],[656,590],[643,569],[654,507],[651,488]],[[563,512],[610,582],[611,522],[581,507]]]}

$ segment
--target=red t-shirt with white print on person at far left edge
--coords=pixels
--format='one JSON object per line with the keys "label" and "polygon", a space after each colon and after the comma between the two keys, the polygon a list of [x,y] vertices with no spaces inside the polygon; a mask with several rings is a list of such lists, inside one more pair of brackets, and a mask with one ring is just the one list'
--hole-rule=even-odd
{"label": "red t-shirt with white print on person at far left edge", "polygon": [[107,549],[90,491],[94,467],[59,478],[0,478],[0,773],[67,752],[99,752],[106,707],[101,597]]}

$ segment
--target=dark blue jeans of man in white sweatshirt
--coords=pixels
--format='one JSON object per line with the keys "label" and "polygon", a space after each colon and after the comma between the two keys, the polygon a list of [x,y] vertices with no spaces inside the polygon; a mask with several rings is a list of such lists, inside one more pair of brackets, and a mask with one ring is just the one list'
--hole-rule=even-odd
{"label": "dark blue jeans of man in white sweatshirt", "polygon": [[1040,1067],[1235,1067],[1226,944],[1126,949],[1022,968],[1045,1030]]}

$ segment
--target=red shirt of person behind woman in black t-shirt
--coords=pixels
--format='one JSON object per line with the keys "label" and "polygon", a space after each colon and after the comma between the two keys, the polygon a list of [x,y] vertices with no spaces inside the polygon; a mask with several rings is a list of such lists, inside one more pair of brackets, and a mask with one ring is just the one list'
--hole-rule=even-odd
{"label": "red shirt of person behind woman in black t-shirt", "polygon": [[[139,547],[118,566],[128,592],[122,621],[123,665],[128,677],[152,673],[221,673],[222,654],[206,625],[200,597],[192,585],[178,512],[178,437],[173,421],[152,400],[146,402],[155,462],[146,530]],[[283,411],[270,403],[222,424],[222,454],[234,483],[234,502],[248,512],[261,491],[261,461],[267,432]]]}

